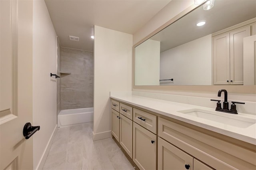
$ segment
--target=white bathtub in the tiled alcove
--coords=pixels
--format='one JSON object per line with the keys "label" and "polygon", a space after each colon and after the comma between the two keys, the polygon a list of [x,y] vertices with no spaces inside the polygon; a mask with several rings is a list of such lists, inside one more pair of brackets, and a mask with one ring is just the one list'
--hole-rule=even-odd
{"label": "white bathtub in the tiled alcove", "polygon": [[94,108],[66,109],[58,115],[58,127],[68,127],[79,123],[93,121]]}

